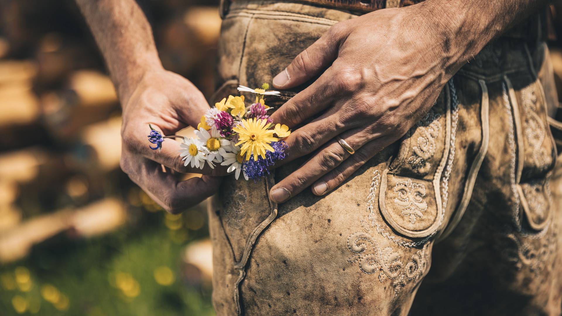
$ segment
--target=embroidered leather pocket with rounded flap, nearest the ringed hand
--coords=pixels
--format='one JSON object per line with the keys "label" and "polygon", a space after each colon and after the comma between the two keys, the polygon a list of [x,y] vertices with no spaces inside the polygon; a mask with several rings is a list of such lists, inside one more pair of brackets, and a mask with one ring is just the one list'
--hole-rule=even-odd
{"label": "embroidered leather pocket with rounded flap, nearest the ringed hand", "polygon": [[427,237],[443,219],[439,183],[450,147],[448,90],[402,138],[396,159],[382,173],[380,213],[404,236]]}

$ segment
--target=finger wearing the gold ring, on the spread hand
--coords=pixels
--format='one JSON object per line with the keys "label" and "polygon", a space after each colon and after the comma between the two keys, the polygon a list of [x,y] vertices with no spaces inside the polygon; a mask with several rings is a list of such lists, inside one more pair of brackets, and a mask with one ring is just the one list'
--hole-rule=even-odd
{"label": "finger wearing the gold ring, on the spread hand", "polygon": [[[361,134],[362,130],[355,129],[342,134],[342,137],[352,148],[360,148],[366,142],[366,138],[361,137]],[[350,152],[345,150],[336,139],[333,139],[300,168],[275,184],[270,190],[271,200],[277,203],[287,201],[324,174],[337,168],[350,155]]]}

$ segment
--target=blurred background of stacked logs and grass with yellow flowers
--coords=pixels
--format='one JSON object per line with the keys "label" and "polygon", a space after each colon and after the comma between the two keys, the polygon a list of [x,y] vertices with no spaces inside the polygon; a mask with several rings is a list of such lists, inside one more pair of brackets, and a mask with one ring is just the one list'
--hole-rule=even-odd
{"label": "blurred background of stacked logs and grass with yellow flowers", "polygon": [[[166,69],[214,89],[218,0],[144,0]],[[120,106],[72,0],[0,0],[0,315],[214,315],[206,205],[119,169]]]}

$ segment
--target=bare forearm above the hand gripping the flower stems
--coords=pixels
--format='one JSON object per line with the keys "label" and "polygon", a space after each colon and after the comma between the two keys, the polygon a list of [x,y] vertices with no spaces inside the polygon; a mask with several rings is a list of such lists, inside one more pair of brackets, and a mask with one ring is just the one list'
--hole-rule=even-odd
{"label": "bare forearm above the hand gripping the flower stems", "polygon": [[123,106],[142,76],[162,69],[151,27],[135,0],[76,0]]}

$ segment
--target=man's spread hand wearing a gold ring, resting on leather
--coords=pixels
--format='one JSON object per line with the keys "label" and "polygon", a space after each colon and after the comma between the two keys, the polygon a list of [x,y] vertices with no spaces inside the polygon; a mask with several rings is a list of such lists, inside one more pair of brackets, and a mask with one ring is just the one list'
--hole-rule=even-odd
{"label": "man's spread hand wearing a gold ring, resting on leather", "polygon": [[339,22],[275,76],[274,87],[287,89],[326,69],[271,116],[293,128],[321,112],[286,139],[287,161],[320,149],[271,188],[274,201],[287,201],[311,185],[315,195],[326,194],[433,106],[460,65],[448,52],[450,34],[436,27],[441,17],[420,10],[388,8]]}

